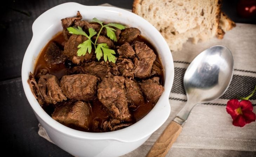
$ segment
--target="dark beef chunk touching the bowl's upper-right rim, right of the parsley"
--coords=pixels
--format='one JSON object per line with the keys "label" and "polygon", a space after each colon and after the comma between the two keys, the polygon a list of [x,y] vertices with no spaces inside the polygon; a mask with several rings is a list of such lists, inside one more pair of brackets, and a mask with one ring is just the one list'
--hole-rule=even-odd
{"label": "dark beef chunk touching the bowl's upper-right rim, right of the parsley", "polygon": [[140,35],[140,30],[137,28],[126,28],[120,34],[118,44],[122,45],[124,43],[132,44],[133,41]]}

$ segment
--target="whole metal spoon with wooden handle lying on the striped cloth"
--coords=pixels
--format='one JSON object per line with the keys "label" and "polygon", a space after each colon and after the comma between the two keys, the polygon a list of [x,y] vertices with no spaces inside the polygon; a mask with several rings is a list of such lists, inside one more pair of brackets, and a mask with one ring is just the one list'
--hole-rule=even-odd
{"label": "whole metal spoon with wooden handle lying on the striped cloth", "polygon": [[224,94],[231,82],[233,67],[233,56],[227,47],[213,46],[197,55],[184,75],[187,104],[163,131],[147,157],[164,157],[167,154],[193,107],[213,101]]}

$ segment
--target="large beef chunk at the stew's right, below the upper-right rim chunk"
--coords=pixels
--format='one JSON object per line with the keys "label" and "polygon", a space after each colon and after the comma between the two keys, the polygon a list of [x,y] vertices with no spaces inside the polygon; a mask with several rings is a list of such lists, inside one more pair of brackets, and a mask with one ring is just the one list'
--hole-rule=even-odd
{"label": "large beef chunk at the stew's right, below the upper-right rim chunk", "polygon": [[138,57],[138,59],[134,59],[134,76],[138,78],[147,78],[150,76],[156,55],[154,51],[143,42],[135,41],[134,46],[136,56]]}

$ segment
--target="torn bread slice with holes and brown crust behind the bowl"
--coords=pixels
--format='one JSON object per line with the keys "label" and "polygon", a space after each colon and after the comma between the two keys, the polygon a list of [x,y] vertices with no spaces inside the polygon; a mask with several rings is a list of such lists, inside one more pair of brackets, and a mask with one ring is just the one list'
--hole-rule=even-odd
{"label": "torn bread slice with holes and brown crust behind the bowl", "polygon": [[[225,33],[220,25],[220,0],[134,0],[133,13],[154,25],[172,51],[181,50],[188,39],[196,44],[214,36],[223,38]],[[231,29],[233,21],[226,17],[222,24]]]}

